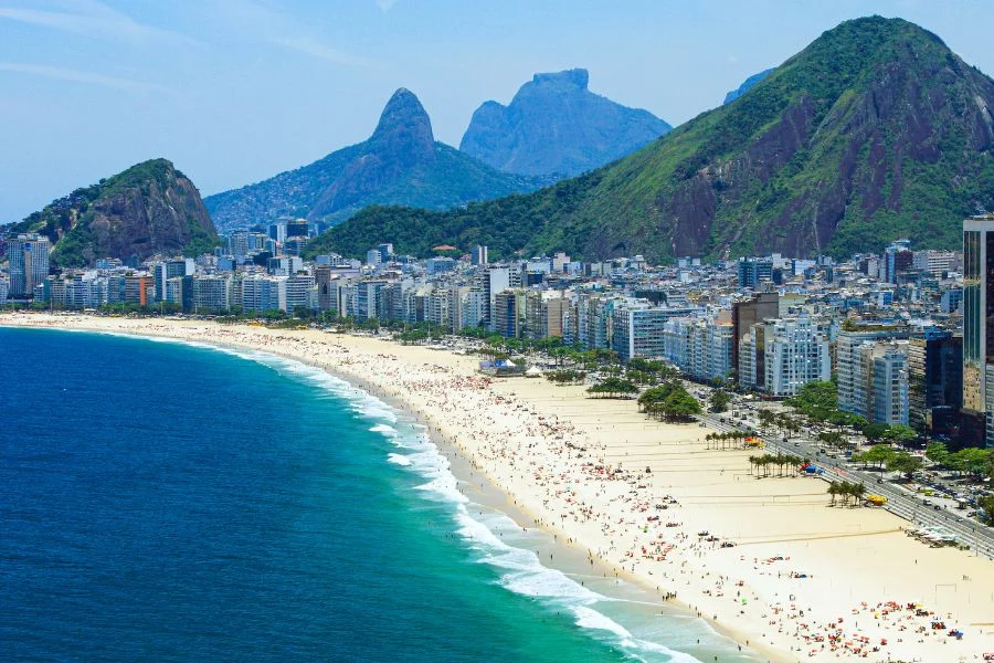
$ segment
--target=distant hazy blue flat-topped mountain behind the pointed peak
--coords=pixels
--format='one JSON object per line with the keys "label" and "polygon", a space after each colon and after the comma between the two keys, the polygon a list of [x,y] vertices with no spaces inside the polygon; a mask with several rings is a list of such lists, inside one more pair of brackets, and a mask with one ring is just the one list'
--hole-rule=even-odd
{"label": "distant hazy blue flat-topped mountain behind the pointed peak", "polygon": [[652,143],[673,127],[586,88],[586,70],[536,74],[510,104],[486,102],[459,150],[506,172],[568,177]]}

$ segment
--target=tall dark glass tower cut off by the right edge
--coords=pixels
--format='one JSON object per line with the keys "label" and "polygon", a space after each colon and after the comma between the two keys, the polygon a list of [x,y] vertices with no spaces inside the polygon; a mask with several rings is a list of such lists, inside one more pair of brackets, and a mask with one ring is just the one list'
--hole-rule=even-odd
{"label": "tall dark glass tower cut off by the right edge", "polygon": [[963,221],[963,409],[994,445],[994,214]]}

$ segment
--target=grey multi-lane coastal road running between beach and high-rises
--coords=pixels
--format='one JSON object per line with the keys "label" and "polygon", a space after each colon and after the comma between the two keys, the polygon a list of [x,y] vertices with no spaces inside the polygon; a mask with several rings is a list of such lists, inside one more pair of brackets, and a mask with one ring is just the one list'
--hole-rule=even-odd
{"label": "grey multi-lane coastal road running between beach and high-rises", "polygon": [[[721,419],[726,421],[722,422]],[[747,430],[744,425],[738,425],[728,414],[707,413],[698,417],[698,421],[717,431],[730,432]],[[795,439],[784,444],[780,440],[763,436],[766,449],[779,453],[790,453],[803,457],[814,459],[812,462],[824,470],[821,477],[825,481],[855,481],[867,486],[867,492],[887,497],[885,508],[895,515],[913,523],[918,527],[940,527],[955,535],[960,543],[970,546],[970,551],[994,559],[994,529],[964,518],[962,515],[945,508],[935,509],[934,506],[923,504],[913,493],[905,491],[879,475],[863,472],[846,465],[839,459],[829,459],[817,455],[817,445],[808,440]]]}

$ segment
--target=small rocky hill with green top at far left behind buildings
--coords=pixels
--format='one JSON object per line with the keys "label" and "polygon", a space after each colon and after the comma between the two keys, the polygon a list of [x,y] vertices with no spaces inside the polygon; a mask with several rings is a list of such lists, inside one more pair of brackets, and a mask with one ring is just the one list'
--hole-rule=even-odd
{"label": "small rocky hill with green top at far left behind buildings", "polygon": [[76,189],[7,230],[47,235],[52,262],[63,267],[86,266],[98,257],[197,255],[218,243],[197,187],[166,159]]}

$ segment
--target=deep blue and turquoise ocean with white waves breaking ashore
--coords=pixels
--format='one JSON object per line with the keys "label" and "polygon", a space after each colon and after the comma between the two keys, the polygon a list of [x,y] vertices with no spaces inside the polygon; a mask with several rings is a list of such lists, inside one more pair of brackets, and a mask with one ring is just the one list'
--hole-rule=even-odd
{"label": "deep blue and turquoise ocean with white waves breaking ashore", "polygon": [[0,413],[3,661],[758,660],[542,566],[416,421],[296,361],[0,328]]}

